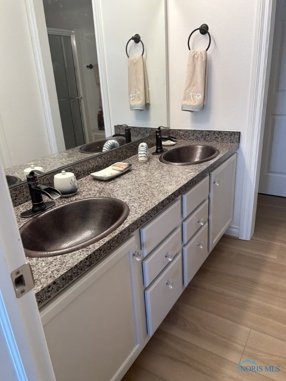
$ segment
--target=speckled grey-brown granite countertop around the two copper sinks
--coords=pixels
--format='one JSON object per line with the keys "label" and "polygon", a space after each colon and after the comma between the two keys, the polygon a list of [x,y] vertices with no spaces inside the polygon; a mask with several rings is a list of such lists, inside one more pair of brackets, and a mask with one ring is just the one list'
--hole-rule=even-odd
{"label": "speckled grey-brown granite countertop around the two copper sinks", "polygon": [[[179,140],[176,146],[204,143],[206,141]],[[61,205],[86,197],[116,197],[129,205],[130,213],[119,228],[87,248],[54,257],[27,258],[34,274],[34,291],[39,308],[206,177],[239,147],[239,143],[208,141],[207,144],[219,150],[219,155],[208,162],[187,166],[166,165],[159,161],[159,155],[150,154],[155,150],[153,147],[149,149],[146,163],[139,163],[137,155],[127,158],[125,161],[132,163],[129,172],[107,182],[94,180],[91,176],[84,177],[78,181],[79,190],[75,196],[56,200],[56,205]],[[171,148],[174,147],[167,149]],[[20,212],[30,207],[30,202],[15,207],[19,227],[27,221],[19,216]]]}

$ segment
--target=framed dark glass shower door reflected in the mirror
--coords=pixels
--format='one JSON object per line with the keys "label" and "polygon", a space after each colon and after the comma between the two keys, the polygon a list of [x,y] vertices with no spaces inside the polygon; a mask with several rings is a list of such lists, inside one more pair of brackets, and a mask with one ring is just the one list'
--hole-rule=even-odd
{"label": "framed dark glass shower door reflected in the mirror", "polygon": [[48,37],[64,140],[69,149],[85,143],[75,38],[72,31],[51,28]]}

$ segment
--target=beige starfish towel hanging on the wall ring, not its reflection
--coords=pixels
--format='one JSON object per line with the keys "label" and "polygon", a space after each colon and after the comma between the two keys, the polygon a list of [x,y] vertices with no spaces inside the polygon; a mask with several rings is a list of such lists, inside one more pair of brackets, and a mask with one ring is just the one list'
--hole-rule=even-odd
{"label": "beige starfish towel hanging on the wall ring, not its reflection", "polygon": [[182,110],[200,111],[207,101],[207,51],[190,50]]}

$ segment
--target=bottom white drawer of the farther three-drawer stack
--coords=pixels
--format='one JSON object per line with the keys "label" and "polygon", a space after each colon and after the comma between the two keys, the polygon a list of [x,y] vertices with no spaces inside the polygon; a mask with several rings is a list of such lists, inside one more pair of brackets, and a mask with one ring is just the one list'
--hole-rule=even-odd
{"label": "bottom white drawer of the farther three-drawer stack", "polygon": [[184,286],[187,286],[208,256],[208,224],[183,247]]}

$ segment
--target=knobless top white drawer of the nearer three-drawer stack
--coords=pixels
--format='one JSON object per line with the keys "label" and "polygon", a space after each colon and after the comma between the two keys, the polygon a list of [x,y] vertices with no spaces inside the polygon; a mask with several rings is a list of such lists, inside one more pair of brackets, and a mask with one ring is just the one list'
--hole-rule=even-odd
{"label": "knobless top white drawer of the nearer three-drawer stack", "polygon": [[143,255],[151,253],[181,222],[181,200],[177,199],[140,229]]}

